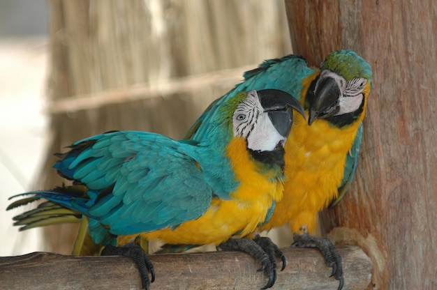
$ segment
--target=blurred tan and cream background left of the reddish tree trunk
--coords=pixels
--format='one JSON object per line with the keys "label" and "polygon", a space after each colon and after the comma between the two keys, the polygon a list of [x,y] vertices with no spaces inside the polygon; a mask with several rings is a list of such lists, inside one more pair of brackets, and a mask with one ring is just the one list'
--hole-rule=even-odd
{"label": "blurred tan and cream background left of the reddish tree trunk", "polygon": [[0,5],[0,256],[71,252],[75,224],[18,233],[25,208],[4,211],[61,184],[53,153],[108,130],[181,138],[244,71],[291,53],[283,0]]}

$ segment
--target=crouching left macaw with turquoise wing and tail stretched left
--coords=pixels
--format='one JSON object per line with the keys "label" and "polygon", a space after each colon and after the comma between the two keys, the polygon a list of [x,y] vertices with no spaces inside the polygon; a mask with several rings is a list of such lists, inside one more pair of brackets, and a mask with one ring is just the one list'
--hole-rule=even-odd
{"label": "crouching left macaw with turquoise wing and tail stretched left", "polygon": [[[135,131],[82,139],[54,165],[73,185],[18,194],[24,199],[8,209],[47,199],[46,207],[87,217],[87,233],[96,245],[105,244],[102,254],[132,257],[149,289],[153,265],[140,246],[117,247],[117,236],[221,245],[255,231],[283,196],[283,146],[292,109],[305,114],[289,93],[241,91],[221,102],[205,131],[209,137],[200,142]],[[16,224],[30,227],[38,219],[15,217]],[[271,287],[276,269],[262,259]]]}

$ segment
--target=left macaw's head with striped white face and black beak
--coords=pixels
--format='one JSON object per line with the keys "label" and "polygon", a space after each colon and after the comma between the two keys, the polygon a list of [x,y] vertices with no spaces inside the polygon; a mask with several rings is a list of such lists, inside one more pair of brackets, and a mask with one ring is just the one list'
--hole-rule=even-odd
{"label": "left macaw's head with striped white face and black beak", "polygon": [[292,109],[305,117],[304,108],[289,93],[276,89],[241,92],[232,114],[234,137],[243,137],[252,151],[283,147],[290,132]]}

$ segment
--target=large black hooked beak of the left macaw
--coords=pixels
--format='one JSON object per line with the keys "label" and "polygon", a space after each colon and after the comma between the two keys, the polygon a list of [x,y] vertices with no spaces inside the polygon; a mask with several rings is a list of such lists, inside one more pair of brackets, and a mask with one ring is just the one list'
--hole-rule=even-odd
{"label": "large black hooked beak of the left macaw", "polygon": [[257,93],[264,112],[268,112],[269,119],[281,136],[288,137],[290,133],[293,119],[292,109],[296,109],[306,118],[304,107],[290,93],[276,89],[261,90]]}

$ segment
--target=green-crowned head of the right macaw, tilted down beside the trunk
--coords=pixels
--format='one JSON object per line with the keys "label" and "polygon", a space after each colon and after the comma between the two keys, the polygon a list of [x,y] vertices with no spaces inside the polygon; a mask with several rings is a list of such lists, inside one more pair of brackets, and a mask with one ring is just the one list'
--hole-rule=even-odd
{"label": "green-crowned head of the right macaw, tilted down beside the trunk", "polygon": [[350,50],[337,50],[320,66],[306,96],[309,125],[316,119],[347,125],[364,112],[372,86],[369,63]]}

